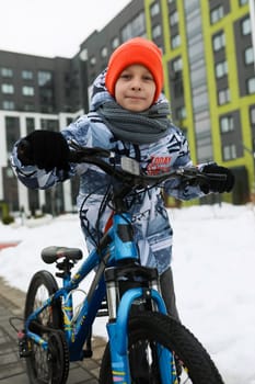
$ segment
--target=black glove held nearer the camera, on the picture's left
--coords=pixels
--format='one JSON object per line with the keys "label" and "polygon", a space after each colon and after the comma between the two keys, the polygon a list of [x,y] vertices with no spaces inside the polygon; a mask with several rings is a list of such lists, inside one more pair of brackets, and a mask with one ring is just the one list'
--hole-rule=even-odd
{"label": "black glove held nearer the camera, on the picture's left", "polygon": [[69,147],[59,132],[34,131],[18,145],[18,158],[24,166],[37,166],[47,172],[69,170]]}

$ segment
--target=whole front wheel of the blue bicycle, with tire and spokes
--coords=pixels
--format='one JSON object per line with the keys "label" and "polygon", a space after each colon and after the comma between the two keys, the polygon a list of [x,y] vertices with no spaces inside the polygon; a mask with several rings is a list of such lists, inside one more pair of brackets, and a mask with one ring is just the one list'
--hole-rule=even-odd
{"label": "whole front wheel of the blue bicycle, with tire and spokes", "polygon": [[[178,371],[175,383],[223,384],[205,348],[188,329],[170,316],[142,313],[130,317],[128,345],[132,384],[164,384],[158,366],[160,355],[157,354],[157,359],[153,355],[159,350],[155,346],[169,349],[175,357]],[[108,343],[102,360],[100,383],[113,383]]]}

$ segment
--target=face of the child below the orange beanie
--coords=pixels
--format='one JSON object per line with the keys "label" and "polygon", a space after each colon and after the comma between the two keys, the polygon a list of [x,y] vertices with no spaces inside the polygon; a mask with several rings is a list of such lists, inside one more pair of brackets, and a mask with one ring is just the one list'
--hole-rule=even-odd
{"label": "face of the child below the orange beanie", "polygon": [[115,84],[115,99],[126,110],[142,112],[154,100],[155,82],[151,72],[142,65],[124,69]]}

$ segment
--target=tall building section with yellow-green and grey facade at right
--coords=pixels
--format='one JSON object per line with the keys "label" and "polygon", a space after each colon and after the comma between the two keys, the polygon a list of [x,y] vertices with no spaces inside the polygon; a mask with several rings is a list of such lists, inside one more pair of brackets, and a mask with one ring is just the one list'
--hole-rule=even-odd
{"label": "tall building section with yellow-green and grey facade at right", "polygon": [[255,174],[254,0],[146,0],[144,7],[148,36],[164,53],[172,116],[186,131],[194,161],[232,168],[231,200],[246,202]]}

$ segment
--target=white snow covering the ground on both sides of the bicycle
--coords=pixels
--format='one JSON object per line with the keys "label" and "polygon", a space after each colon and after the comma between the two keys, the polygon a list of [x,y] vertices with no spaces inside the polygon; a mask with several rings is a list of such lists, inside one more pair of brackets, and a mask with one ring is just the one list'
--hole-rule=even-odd
{"label": "white snow covering the ground on both sides of the bicycle", "polygon": [[[169,215],[184,325],[209,351],[227,384],[255,384],[255,207],[204,205],[171,208]],[[20,241],[0,251],[0,275],[23,291],[35,271],[55,272],[40,260],[42,248],[79,247],[86,255],[76,214],[28,223],[0,224],[0,242]],[[105,321],[96,320],[95,334],[106,336]]]}

